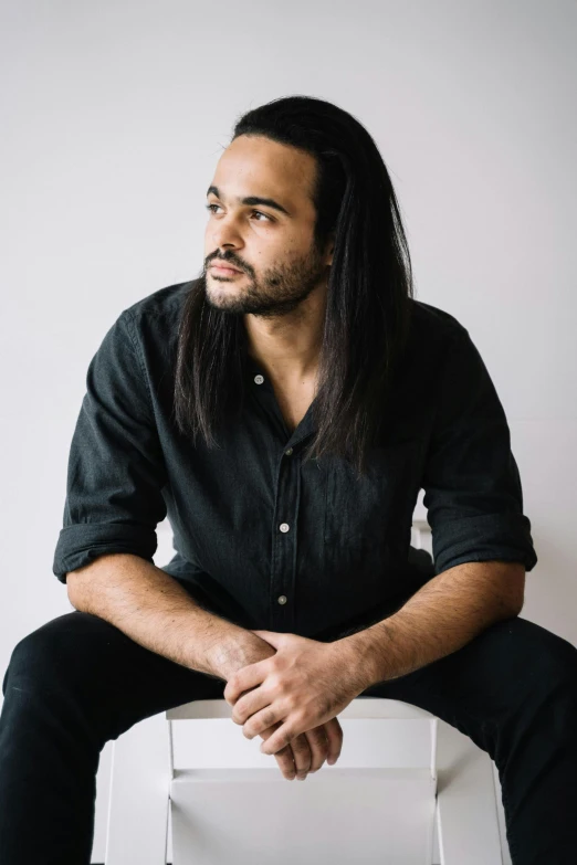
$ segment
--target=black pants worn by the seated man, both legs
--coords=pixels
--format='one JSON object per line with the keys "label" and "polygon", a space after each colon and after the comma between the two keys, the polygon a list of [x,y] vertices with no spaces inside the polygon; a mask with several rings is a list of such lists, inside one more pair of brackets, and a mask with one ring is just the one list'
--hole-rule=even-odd
{"label": "black pants worn by the seated man, both legs", "polygon": [[[88,865],[105,742],[165,709],[221,698],[224,686],[88,613],[66,613],[21,640],[0,716],[0,865]],[[575,864],[575,646],[507,619],[363,696],[420,706],[491,755],[514,865]]]}

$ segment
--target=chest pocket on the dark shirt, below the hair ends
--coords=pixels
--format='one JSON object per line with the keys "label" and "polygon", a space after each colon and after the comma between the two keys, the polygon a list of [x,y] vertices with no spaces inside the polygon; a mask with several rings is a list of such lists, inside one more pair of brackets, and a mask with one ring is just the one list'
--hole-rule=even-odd
{"label": "chest pocket on the dark shirt, below the hair ends", "polygon": [[327,463],[325,553],[339,568],[382,570],[402,547],[420,488],[423,443],[374,447],[361,477],[345,461]]}

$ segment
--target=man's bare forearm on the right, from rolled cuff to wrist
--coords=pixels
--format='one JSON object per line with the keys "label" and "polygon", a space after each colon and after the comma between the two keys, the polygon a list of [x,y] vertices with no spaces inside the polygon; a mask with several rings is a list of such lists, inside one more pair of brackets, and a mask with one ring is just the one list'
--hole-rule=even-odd
{"label": "man's bare forearm on the right, from rolled cuff to wrist", "polygon": [[405,676],[462,648],[521,608],[506,590],[511,563],[466,562],[433,577],[394,615],[339,642],[367,687]]}

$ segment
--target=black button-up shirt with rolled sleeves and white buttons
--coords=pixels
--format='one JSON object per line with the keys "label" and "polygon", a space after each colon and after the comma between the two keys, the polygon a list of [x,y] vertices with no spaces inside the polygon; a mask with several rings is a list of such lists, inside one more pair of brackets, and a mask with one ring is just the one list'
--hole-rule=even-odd
{"label": "black button-up shirt with rolled sleeves and white buttons", "polygon": [[[129,552],[162,568],[206,609],[250,629],[334,639],[399,609],[466,561],[537,561],[501,401],[468,330],[411,300],[409,350],[368,475],[336,456],[303,463],[312,409],[290,432],[264,369],[245,355],[248,397],[220,449],[171,420],[179,315],[191,283],[126,308],[86,376],[69,458],[53,572]],[[433,562],[410,547],[420,489]],[[422,552],[422,551],[420,551]],[[415,560],[415,561],[413,561]],[[348,630],[350,629],[350,630]]]}

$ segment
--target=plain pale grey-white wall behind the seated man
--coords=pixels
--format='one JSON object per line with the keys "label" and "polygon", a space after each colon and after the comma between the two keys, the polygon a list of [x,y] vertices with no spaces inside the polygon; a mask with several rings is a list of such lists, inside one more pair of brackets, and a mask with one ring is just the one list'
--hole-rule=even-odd
{"label": "plain pale grey-white wall behind the seated man", "polygon": [[87,365],[125,307],[197,274],[234,119],[292,94],[376,139],[416,297],[469,329],[507,414],[539,558],[522,616],[577,644],[576,3],[14,0],[0,14],[2,674],[17,641],[72,609],[51,568]]}

